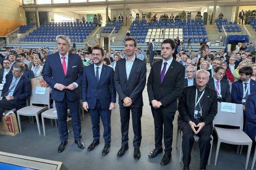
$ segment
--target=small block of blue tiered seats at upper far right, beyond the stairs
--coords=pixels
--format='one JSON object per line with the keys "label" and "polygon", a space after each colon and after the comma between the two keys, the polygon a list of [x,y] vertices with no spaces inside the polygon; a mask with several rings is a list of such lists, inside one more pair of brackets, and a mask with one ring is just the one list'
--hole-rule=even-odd
{"label": "small block of blue tiered seats at upper far right, beyond the stairs", "polygon": [[228,22],[226,18],[224,19],[215,19],[215,23],[220,32],[222,32],[222,25],[226,32],[241,32],[242,29],[237,25],[237,22]]}

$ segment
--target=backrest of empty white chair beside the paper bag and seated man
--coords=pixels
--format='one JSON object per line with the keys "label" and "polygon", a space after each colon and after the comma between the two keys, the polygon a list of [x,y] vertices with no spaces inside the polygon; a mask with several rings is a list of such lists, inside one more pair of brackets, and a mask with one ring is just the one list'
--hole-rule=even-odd
{"label": "backrest of empty white chair beside the paper bag and seated man", "polygon": [[35,92],[36,92],[36,87],[32,87],[32,93],[30,96],[30,105],[43,104],[43,105],[47,105],[48,108],[50,108],[49,87],[46,87],[45,94],[35,94]]}

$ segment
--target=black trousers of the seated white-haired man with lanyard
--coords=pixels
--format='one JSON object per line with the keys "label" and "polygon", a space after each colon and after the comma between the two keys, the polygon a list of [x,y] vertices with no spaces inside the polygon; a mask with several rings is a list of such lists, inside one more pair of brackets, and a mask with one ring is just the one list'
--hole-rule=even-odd
{"label": "black trousers of the seated white-haired man with lanyard", "polygon": [[[182,151],[183,151],[183,164],[184,166],[189,166],[191,161],[191,150],[193,144],[195,142],[194,139],[194,132],[192,131],[189,123],[187,123],[181,129],[182,131]],[[200,168],[206,168],[207,161],[210,155],[211,149],[211,132],[212,132],[212,125],[205,125],[201,131],[197,134],[199,137],[199,150],[200,150]]]}

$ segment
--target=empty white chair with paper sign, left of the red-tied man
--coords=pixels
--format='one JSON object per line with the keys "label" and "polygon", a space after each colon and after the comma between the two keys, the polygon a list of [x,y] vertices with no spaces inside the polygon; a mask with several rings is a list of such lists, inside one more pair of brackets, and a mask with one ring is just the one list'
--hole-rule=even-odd
{"label": "empty white chair with paper sign, left of the red-tied man", "polygon": [[[18,117],[18,123],[20,132],[22,132],[21,123],[20,123],[20,115],[22,116],[35,116],[36,117],[36,123],[38,127],[38,133],[41,134],[40,131],[40,122],[38,115],[50,108],[50,101],[49,101],[49,87],[46,87],[45,94],[35,94],[36,87],[32,87],[32,94],[30,96],[30,105],[27,107],[23,107],[20,110],[17,110],[17,117]],[[47,107],[39,107],[35,106],[33,104],[43,104],[47,105]]]}

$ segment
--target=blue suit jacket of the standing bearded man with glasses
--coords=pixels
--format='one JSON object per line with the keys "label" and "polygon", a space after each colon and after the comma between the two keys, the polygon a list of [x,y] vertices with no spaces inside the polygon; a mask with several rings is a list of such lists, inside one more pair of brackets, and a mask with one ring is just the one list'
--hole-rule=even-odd
{"label": "blue suit jacket of the standing bearded man with glasses", "polygon": [[102,66],[99,83],[96,80],[94,64],[83,69],[82,102],[87,102],[89,109],[93,110],[97,99],[102,110],[108,110],[111,102],[116,103],[114,70],[107,65]]}

